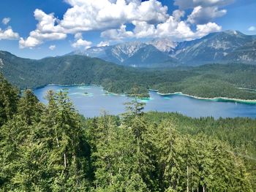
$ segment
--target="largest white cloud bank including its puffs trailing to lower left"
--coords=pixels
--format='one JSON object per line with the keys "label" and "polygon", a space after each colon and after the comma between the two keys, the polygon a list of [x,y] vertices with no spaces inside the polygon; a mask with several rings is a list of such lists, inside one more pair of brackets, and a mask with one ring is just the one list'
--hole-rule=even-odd
{"label": "largest white cloud bank including its puffs trailing to lower left", "polygon": [[[46,14],[36,9],[34,18],[38,20],[37,28],[30,32],[28,38],[20,39],[20,47],[35,47],[45,40],[65,39],[67,34],[80,34],[83,31],[112,30],[113,28],[118,30],[124,23],[131,23],[132,20],[159,23],[164,22],[168,17],[167,7],[162,6],[157,0],[143,2],[139,0],[66,0],[66,2],[72,7],[67,9],[63,20],[55,18],[53,13]],[[115,32],[108,31],[108,33],[111,35]]]}

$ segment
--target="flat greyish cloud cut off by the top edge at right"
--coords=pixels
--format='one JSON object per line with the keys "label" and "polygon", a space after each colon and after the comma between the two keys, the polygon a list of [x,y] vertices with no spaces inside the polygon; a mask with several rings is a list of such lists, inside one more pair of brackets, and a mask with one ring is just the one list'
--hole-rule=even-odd
{"label": "flat greyish cloud cut off by the top edge at right", "polygon": [[201,7],[222,7],[227,4],[232,4],[235,0],[174,0],[174,4],[179,9],[189,9],[197,6]]}

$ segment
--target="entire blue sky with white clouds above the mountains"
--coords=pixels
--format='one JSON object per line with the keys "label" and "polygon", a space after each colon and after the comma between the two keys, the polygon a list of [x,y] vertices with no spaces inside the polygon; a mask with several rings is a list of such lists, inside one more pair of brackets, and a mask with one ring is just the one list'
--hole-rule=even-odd
{"label": "entire blue sky with white clouds above the mountains", "polygon": [[255,0],[1,0],[0,50],[24,58],[93,46],[238,30],[256,34]]}

